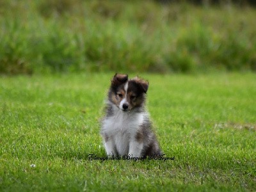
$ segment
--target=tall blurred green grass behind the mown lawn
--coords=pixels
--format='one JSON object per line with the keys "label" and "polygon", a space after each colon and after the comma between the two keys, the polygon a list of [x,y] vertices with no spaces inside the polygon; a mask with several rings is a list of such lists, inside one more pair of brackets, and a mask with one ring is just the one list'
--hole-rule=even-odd
{"label": "tall blurred green grass behind the mown lawn", "polygon": [[255,7],[195,2],[0,0],[0,73],[256,71]]}

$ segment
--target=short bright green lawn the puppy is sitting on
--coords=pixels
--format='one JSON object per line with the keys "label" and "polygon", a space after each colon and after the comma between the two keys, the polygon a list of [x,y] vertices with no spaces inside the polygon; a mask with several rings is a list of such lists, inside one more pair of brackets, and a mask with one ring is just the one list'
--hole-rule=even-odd
{"label": "short bright green lawn the puppy is sitting on", "polygon": [[88,161],[111,76],[0,77],[0,191],[256,190],[255,74],[141,74],[175,160]]}

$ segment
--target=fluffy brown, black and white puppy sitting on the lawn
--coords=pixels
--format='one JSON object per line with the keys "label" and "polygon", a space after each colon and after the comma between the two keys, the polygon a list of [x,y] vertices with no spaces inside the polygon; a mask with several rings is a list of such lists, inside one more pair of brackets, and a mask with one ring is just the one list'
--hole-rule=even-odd
{"label": "fluffy brown, black and white puppy sitting on the lawn", "polygon": [[100,134],[108,156],[147,157],[162,152],[145,109],[148,82],[115,74]]}

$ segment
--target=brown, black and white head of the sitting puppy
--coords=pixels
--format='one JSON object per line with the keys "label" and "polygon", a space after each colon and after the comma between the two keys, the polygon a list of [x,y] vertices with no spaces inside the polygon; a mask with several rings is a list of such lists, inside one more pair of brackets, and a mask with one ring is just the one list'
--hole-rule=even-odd
{"label": "brown, black and white head of the sitting puppy", "polygon": [[115,74],[111,80],[109,101],[122,111],[131,111],[131,109],[143,106],[147,90],[147,81],[139,77],[128,80],[127,75]]}

